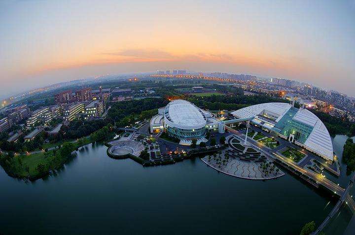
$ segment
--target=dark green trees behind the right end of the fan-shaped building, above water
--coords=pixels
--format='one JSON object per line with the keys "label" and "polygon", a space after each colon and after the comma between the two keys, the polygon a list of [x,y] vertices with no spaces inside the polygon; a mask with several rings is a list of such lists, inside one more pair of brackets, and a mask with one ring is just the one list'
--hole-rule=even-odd
{"label": "dark green trees behind the right end of the fan-shaped building, above water", "polygon": [[348,136],[355,135],[355,124],[349,121],[344,121],[340,118],[330,116],[317,110],[312,110],[314,114],[324,123],[330,135],[347,134]]}

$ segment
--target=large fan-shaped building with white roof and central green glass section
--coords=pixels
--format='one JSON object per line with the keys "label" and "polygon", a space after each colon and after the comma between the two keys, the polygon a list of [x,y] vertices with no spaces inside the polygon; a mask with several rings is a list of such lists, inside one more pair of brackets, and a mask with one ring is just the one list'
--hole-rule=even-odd
{"label": "large fan-shaped building with white roof and central green glass section", "polygon": [[260,103],[231,113],[236,118],[254,117],[251,122],[260,128],[333,161],[333,144],[325,125],[306,108],[289,103]]}

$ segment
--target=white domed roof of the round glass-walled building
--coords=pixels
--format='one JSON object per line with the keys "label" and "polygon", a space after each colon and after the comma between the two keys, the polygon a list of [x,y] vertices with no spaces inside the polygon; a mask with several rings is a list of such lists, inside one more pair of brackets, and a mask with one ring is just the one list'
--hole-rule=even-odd
{"label": "white domed roof of the round glass-walled building", "polygon": [[189,101],[175,100],[165,107],[164,122],[183,130],[200,129],[206,126],[206,116]]}

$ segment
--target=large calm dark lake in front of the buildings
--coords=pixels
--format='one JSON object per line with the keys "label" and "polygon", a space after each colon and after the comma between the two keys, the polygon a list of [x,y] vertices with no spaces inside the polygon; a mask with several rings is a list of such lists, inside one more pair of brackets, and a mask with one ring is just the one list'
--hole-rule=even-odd
{"label": "large calm dark lake in front of the buildings", "polygon": [[288,172],[253,181],[201,160],[143,168],[91,144],[56,175],[25,183],[0,169],[0,233],[299,234],[335,204]]}

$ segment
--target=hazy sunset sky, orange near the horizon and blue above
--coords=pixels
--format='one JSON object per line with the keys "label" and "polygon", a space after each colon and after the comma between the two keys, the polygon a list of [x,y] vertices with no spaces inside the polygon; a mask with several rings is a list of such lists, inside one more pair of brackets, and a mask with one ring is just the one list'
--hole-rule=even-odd
{"label": "hazy sunset sky, orange near the horizon and blue above", "polygon": [[0,1],[0,97],[159,69],[281,77],[355,96],[355,0]]}

